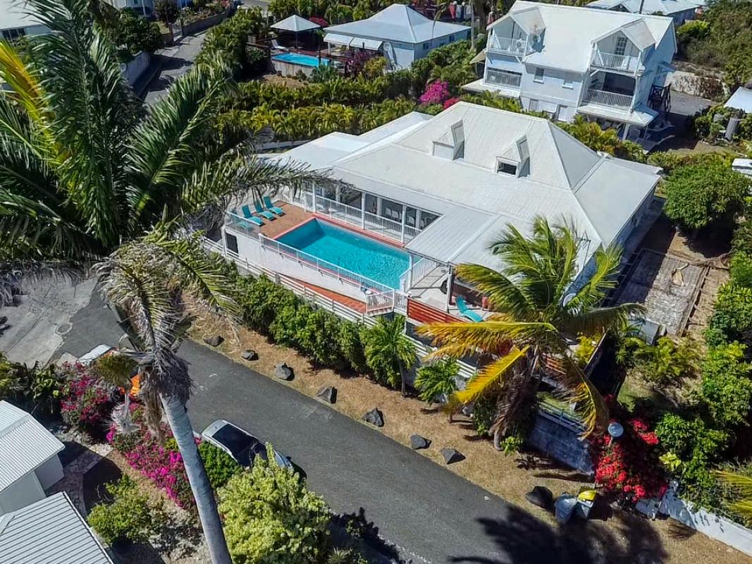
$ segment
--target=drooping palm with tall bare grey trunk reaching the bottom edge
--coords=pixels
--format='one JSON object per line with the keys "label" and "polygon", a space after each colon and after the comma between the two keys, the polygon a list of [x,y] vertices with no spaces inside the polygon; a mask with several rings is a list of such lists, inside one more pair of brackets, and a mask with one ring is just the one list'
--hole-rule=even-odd
{"label": "drooping palm with tall bare grey trunk reaching the bottom edge", "polygon": [[174,226],[159,224],[144,238],[120,246],[97,265],[99,288],[106,301],[120,308],[132,328],[141,365],[141,391],[147,421],[159,438],[162,413],[183,457],[211,562],[231,564],[229,551],[193,429],[186,402],[191,381],[187,363],[177,356],[180,337],[190,315],[211,312],[232,319],[237,314],[229,298],[229,282],[221,274],[221,259],[208,256],[199,235],[174,238]]}

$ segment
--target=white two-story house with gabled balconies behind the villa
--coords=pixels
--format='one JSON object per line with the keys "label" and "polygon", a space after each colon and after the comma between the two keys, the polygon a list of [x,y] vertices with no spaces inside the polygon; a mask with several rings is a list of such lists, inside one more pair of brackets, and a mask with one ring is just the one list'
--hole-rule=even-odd
{"label": "white two-story house with gabled balconies behind the villa", "polygon": [[669,17],[520,0],[488,27],[484,77],[465,89],[561,121],[581,114],[626,138],[665,108],[675,53]]}

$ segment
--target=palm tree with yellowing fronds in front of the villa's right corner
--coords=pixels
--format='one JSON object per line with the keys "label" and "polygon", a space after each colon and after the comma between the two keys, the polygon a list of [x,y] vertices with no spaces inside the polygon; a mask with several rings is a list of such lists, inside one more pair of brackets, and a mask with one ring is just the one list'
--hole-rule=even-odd
{"label": "palm tree with yellowing fronds in front of the villa's right corner", "polygon": [[607,420],[603,399],[572,358],[567,339],[623,326],[641,306],[599,307],[615,284],[620,250],[614,247],[597,250],[592,276],[578,289],[573,287],[579,241],[571,227],[551,227],[542,217],[535,218],[530,238],[508,226],[491,246],[502,261],[500,271],[469,264],[456,270],[457,277],[486,296],[495,313],[479,323],[431,323],[418,329],[440,347],[433,357],[480,354],[492,359],[455,399],[466,405],[492,393],[498,396],[492,428],[497,448],[511,424],[532,405],[547,359],[561,362],[560,371],[547,375],[562,395],[581,406],[585,434]]}

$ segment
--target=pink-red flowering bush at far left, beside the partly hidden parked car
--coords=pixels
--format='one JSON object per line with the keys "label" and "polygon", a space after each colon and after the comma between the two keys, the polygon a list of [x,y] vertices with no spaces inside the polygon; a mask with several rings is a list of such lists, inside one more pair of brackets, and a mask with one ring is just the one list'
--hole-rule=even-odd
{"label": "pink-red flowering bush at far left, beside the partly hidden parked car", "polygon": [[60,401],[62,420],[86,432],[97,429],[112,413],[112,387],[79,363],[63,365],[62,373],[66,381]]}

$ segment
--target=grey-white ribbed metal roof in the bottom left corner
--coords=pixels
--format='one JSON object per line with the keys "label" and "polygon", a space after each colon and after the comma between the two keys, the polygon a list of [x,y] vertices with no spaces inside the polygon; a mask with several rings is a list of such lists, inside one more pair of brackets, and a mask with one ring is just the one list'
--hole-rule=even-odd
{"label": "grey-white ribbed metal roof in the bottom left corner", "polygon": [[113,564],[68,494],[0,517],[3,564]]}

